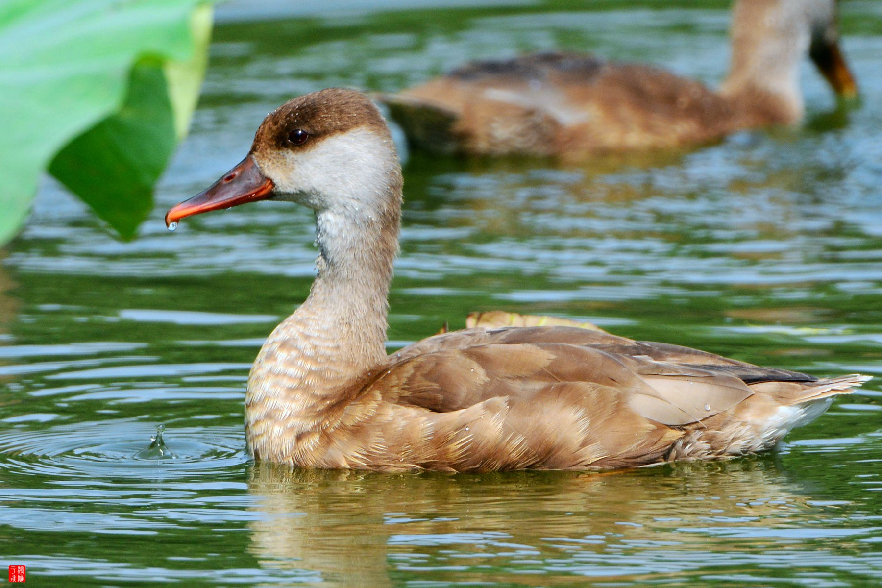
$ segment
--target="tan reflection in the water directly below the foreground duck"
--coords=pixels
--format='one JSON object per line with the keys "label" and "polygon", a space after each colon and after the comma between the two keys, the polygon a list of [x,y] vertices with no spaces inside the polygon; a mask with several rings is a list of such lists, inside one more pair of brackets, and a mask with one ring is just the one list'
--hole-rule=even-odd
{"label": "tan reflection in the water directly below the foreground duck", "polygon": [[621,580],[622,566],[658,579],[743,565],[774,557],[770,527],[823,514],[777,459],[480,476],[258,463],[248,481],[260,515],[250,551],[261,566],[317,573],[333,586],[403,584],[429,569],[436,580],[505,585],[534,585],[528,572],[543,570],[543,585],[572,585],[573,573]]}

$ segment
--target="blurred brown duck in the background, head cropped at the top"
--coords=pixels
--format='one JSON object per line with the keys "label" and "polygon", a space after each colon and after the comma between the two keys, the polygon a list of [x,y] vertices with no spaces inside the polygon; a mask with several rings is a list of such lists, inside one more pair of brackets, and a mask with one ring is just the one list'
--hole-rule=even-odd
{"label": "blurred brown duck in the background, head cropped at the top", "polygon": [[835,0],[736,0],[729,77],[714,92],[647,65],[542,53],[470,63],[384,94],[412,145],[440,153],[592,154],[701,144],[803,116],[806,53],[843,97],[857,93]]}

